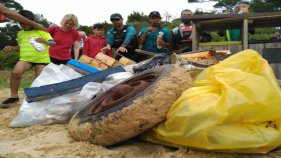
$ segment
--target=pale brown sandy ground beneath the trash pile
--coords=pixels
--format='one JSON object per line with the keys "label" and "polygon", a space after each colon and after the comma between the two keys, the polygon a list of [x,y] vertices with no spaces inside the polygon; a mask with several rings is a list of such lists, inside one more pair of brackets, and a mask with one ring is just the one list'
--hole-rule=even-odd
{"label": "pale brown sandy ground beneath the trash pile", "polygon": [[[9,96],[8,89],[0,90],[0,101]],[[23,96],[21,92],[21,97]],[[67,125],[37,125],[27,128],[9,128],[19,104],[8,109],[0,108],[0,157],[7,158],[90,158],[90,157],[160,157],[160,158],[224,158],[224,157],[281,157],[281,150],[263,154],[227,154],[186,148],[173,149],[142,142],[135,138],[111,147],[77,142],[68,134]]]}

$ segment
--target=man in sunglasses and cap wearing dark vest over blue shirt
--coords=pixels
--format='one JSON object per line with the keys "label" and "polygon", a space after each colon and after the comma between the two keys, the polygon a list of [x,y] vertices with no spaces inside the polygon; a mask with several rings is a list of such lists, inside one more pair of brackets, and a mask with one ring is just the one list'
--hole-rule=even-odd
{"label": "man in sunglasses and cap wearing dark vest over blue shirt", "polygon": [[[107,32],[107,45],[102,49],[102,52],[113,48],[121,55],[136,61],[135,49],[138,48],[136,29],[131,25],[125,25],[119,13],[112,14],[110,21],[113,28]],[[119,60],[121,56],[117,55],[115,58]]]}

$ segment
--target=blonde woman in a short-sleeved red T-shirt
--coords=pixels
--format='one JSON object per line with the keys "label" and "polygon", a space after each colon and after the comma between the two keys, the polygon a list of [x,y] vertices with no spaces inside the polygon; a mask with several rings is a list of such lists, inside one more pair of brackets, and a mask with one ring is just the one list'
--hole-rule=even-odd
{"label": "blonde woman in a short-sleeved red T-shirt", "polygon": [[67,14],[61,21],[61,26],[51,26],[48,31],[56,42],[50,47],[51,62],[55,64],[66,64],[71,59],[70,49],[74,45],[74,58],[79,56],[79,41],[81,37],[76,31],[79,27],[78,19],[73,14]]}

